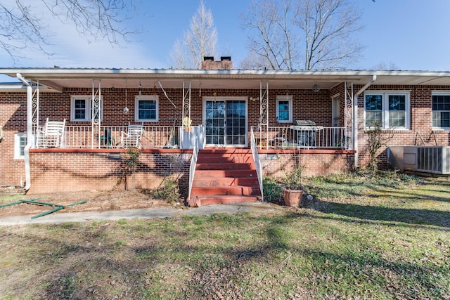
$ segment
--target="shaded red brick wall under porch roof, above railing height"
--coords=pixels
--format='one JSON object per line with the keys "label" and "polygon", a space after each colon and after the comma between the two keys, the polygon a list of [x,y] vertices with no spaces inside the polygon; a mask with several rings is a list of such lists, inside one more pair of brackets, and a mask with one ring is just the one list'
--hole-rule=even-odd
{"label": "shaded red brick wall under porch roof, above railing height", "polygon": [[[181,125],[182,119],[182,98],[181,89],[167,89],[166,93],[176,108],[167,100],[161,89],[156,89],[159,98],[160,112],[159,122],[148,123],[161,126],[171,126],[174,119]],[[142,95],[155,93],[153,88],[141,89]],[[128,122],[134,122],[134,97],[139,93],[139,89],[127,89],[127,100],[125,100],[125,89],[105,89],[101,91],[103,98],[103,121],[105,126],[123,126]],[[201,96],[198,89],[191,92],[191,119],[192,125],[203,124],[203,97],[213,97],[217,93],[217,98],[226,97],[259,97],[259,89],[202,89]],[[331,124],[331,100],[330,93],[321,90],[314,93],[311,90],[288,90],[293,96],[293,119],[313,119],[316,124],[330,126]],[[20,114],[15,115],[15,119],[9,121],[11,129],[18,127],[26,129],[26,93],[12,93],[13,96],[6,97],[0,93],[0,105],[11,102],[22,105]],[[91,122],[70,122],[70,96],[92,94],[91,89],[64,89],[62,93],[40,93],[39,96],[39,124],[44,125],[47,117],[49,119],[66,119],[68,125],[90,125]],[[269,90],[269,125],[276,126],[276,96],[285,95],[286,90]],[[12,100],[13,99],[13,100]],[[129,112],[124,114],[123,108],[127,105]],[[5,119],[8,119],[7,115]],[[259,121],[259,101],[248,101],[248,119],[250,126],[257,126]],[[5,121],[6,122],[6,121]]]}

